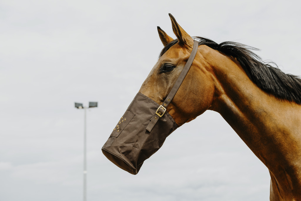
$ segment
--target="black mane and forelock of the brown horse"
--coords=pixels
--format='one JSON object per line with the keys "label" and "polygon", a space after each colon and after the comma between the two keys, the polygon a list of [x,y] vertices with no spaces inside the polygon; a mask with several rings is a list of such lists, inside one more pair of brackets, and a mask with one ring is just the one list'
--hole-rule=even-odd
{"label": "black mane and forelock of the brown horse", "polygon": [[[295,75],[285,74],[275,63],[263,62],[258,55],[251,51],[259,49],[238,42],[222,42],[217,44],[207,38],[194,38],[199,40],[199,45],[206,45],[236,58],[250,80],[266,93],[301,105],[301,79]],[[160,57],[177,42],[178,39],[175,39],[167,44],[161,51]]]}

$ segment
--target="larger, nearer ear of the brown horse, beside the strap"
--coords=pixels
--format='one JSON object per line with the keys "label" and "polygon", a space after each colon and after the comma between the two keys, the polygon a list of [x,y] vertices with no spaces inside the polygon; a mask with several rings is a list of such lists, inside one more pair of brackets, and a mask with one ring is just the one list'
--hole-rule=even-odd
{"label": "larger, nearer ear of the brown horse, beside the strap", "polygon": [[175,18],[172,16],[172,14],[169,13],[169,17],[172,23],[172,30],[177,36],[180,45],[193,48],[194,41],[191,36],[189,36],[188,33],[186,33],[186,31],[177,23],[177,21],[175,21]]}

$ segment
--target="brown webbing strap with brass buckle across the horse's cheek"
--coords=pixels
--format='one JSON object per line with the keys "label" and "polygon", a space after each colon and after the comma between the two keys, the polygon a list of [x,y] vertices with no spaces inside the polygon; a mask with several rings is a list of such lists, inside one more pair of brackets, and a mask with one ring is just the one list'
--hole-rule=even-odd
{"label": "brown webbing strap with brass buckle across the horse's cheek", "polygon": [[153,129],[154,125],[157,123],[159,118],[164,115],[164,113],[166,111],[166,108],[167,108],[167,105],[172,101],[173,97],[175,96],[175,93],[177,93],[177,91],[178,91],[179,87],[181,86],[186,74],[189,71],[189,68],[191,67],[191,64],[194,60],[195,55],[197,54],[198,46],[199,46],[199,42],[197,42],[195,40],[194,44],[193,44],[193,49],[192,49],[191,54],[188,58],[188,61],[186,62],[186,64],[185,64],[182,72],[180,73],[177,81],[175,82],[174,86],[170,90],[168,96],[166,97],[166,99],[164,100],[162,105],[160,105],[160,107],[157,109],[155,115],[151,118],[151,122],[147,125],[146,130],[148,132],[151,132],[151,130]]}

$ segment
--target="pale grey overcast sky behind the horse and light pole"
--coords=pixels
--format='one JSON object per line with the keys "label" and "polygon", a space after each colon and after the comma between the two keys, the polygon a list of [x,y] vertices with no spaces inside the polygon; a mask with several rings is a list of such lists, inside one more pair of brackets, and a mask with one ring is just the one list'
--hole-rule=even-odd
{"label": "pale grey overcast sky behind the horse and light pole", "polygon": [[191,36],[261,49],[301,75],[298,1],[0,2],[0,200],[82,200],[83,110],[88,200],[268,200],[268,169],[231,127],[206,111],[131,175],[101,147],[163,48],[168,13]]}

